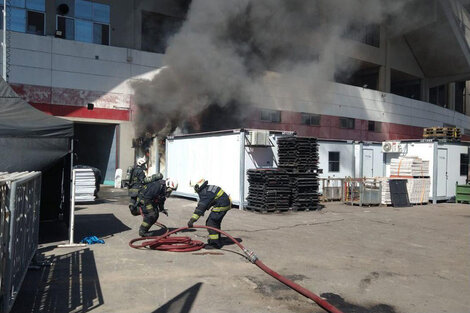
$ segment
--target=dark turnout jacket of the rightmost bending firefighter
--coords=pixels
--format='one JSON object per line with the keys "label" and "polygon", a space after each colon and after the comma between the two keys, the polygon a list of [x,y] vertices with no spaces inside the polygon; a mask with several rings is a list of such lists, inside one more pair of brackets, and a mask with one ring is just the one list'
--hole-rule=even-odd
{"label": "dark turnout jacket of the rightmost bending firefighter", "polygon": [[198,220],[211,207],[212,212],[225,212],[232,208],[230,197],[218,186],[207,185],[199,190],[198,195],[199,202],[191,217],[194,220]]}

